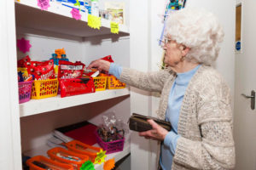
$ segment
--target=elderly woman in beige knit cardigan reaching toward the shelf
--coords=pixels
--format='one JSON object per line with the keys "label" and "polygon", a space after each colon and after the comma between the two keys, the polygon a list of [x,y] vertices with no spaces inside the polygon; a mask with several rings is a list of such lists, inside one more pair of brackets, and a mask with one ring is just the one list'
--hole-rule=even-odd
{"label": "elderly woman in beige knit cardigan reaching toward the shelf", "polygon": [[109,71],[122,82],[160,92],[158,116],[171,122],[167,132],[153,120],[153,129],[139,133],[160,140],[159,168],[232,169],[235,147],[232,135],[230,89],[211,67],[218,57],[224,33],[218,19],[205,10],[189,8],[166,21],[163,71],[140,72],[93,61],[89,68]]}

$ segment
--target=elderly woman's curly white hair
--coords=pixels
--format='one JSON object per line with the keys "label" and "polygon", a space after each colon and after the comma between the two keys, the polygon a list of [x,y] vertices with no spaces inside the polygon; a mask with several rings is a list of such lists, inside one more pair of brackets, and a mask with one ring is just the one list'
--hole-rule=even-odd
{"label": "elderly woman's curly white hair", "polygon": [[211,65],[218,58],[224,31],[214,14],[205,9],[183,8],[166,20],[165,37],[190,48],[185,59]]}

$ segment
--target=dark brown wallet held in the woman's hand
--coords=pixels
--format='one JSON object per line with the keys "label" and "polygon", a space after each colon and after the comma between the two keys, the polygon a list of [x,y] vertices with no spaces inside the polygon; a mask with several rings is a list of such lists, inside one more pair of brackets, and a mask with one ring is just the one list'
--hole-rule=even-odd
{"label": "dark brown wallet held in the woman's hand", "polygon": [[172,125],[170,122],[162,121],[160,119],[151,117],[151,116],[143,116],[137,113],[133,113],[129,119],[129,127],[133,131],[144,132],[152,129],[152,126],[147,122],[148,119],[154,120],[161,127],[166,128],[167,131],[170,131]]}

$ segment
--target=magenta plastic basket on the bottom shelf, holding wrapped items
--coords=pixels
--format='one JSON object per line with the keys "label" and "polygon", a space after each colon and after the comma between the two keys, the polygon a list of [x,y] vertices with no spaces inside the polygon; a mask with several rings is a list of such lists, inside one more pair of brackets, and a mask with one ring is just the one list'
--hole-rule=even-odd
{"label": "magenta plastic basket on the bottom shelf, holding wrapped items", "polygon": [[[100,146],[103,148],[103,150],[106,150],[106,154],[111,154],[118,151],[124,150],[124,144],[125,144],[125,137],[123,139],[114,140],[112,142],[104,142],[102,138],[99,136],[99,134],[96,133],[96,141]],[[120,135],[119,135],[120,136]]]}

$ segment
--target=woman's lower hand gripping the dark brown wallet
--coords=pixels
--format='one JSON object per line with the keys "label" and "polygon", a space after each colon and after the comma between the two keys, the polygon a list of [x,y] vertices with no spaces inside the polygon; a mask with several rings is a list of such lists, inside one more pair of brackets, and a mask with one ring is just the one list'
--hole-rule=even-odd
{"label": "woman's lower hand gripping the dark brown wallet", "polygon": [[154,139],[154,140],[160,140],[163,141],[166,138],[166,134],[168,131],[164,128],[158,125],[153,120],[148,120],[149,124],[153,127],[153,129],[148,130],[146,132],[139,133],[140,136],[143,136],[145,139]]}

